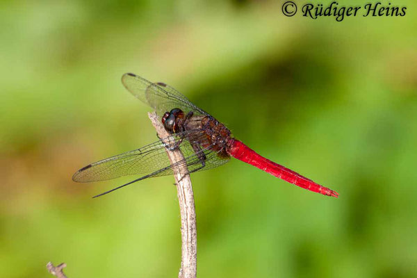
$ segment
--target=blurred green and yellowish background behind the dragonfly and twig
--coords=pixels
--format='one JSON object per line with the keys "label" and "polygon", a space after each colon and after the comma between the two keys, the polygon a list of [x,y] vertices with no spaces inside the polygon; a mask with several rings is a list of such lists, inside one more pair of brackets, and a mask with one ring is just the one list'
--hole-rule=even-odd
{"label": "blurred green and yellowish background behind the dragonfly and twig", "polygon": [[172,177],[98,199],[132,177],[71,180],[156,140],[125,72],[174,86],[340,193],[236,160],[193,174],[199,277],[417,277],[416,3],[343,22],[284,17],[281,4],[3,1],[0,277],[51,277],[48,261],[70,278],[177,277]]}

